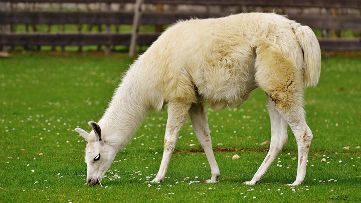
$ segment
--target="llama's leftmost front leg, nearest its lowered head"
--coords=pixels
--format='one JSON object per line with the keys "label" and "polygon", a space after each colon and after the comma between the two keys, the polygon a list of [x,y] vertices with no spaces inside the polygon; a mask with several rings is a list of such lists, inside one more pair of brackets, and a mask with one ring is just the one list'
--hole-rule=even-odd
{"label": "llama's leftmost front leg, nearest its lowered head", "polygon": [[163,157],[160,163],[159,171],[155,178],[151,181],[156,183],[162,181],[168,169],[170,157],[173,154],[175,144],[178,140],[179,131],[187,119],[187,112],[191,105],[169,102],[168,103],[168,119],[164,135]]}

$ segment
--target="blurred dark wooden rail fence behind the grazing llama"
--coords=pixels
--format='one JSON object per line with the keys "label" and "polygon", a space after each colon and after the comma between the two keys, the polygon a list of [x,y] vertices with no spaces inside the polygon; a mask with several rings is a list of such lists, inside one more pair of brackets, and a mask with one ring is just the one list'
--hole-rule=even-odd
{"label": "blurred dark wooden rail fence behind the grazing llama", "polygon": [[[5,52],[14,46],[53,46],[53,48],[79,46],[81,50],[82,46],[97,45],[105,46],[105,52],[109,53],[111,46],[129,46],[132,38],[136,39],[133,41],[137,45],[150,45],[159,36],[161,25],[171,24],[178,19],[222,17],[232,13],[258,11],[285,14],[289,19],[319,30],[322,33],[319,42],[324,51],[361,50],[360,0],[144,0],[141,8],[154,5],[155,9],[142,11],[139,21],[134,21],[133,18],[132,5],[135,2],[135,0],[0,0],[2,7],[0,45]],[[52,6],[54,4],[57,5],[56,9]],[[89,5],[94,7],[94,4],[98,5],[99,9],[89,7]],[[40,7],[41,5],[43,7]],[[130,11],[126,9],[129,5]],[[114,6],[118,9],[114,9]],[[124,33],[117,29],[119,25],[134,24],[154,25],[158,29],[153,33],[137,34],[138,29],[135,26],[133,35],[130,31]],[[25,32],[19,32],[16,29],[17,25],[24,25]],[[39,32],[37,27],[39,25],[47,25],[48,30]],[[63,29],[52,32],[53,25],[62,25]],[[65,25],[76,25],[78,32],[65,32]],[[84,25],[88,26],[88,31],[84,31]],[[111,26],[115,26],[115,31],[111,31]],[[97,27],[98,31],[94,32],[93,27]],[[342,35],[348,38],[340,37]]]}

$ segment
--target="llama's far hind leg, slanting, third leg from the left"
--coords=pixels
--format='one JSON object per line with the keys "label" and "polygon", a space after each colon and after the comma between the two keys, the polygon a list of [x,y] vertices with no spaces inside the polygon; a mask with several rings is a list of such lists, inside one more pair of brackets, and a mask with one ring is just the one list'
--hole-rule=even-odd
{"label": "llama's far hind leg, slanting, third leg from the left", "polygon": [[256,184],[263,175],[267,172],[282,147],[287,143],[287,122],[282,115],[276,110],[275,103],[270,97],[267,97],[268,101],[268,113],[271,120],[271,143],[270,149],[263,160],[261,166],[254,174],[250,181],[243,182],[243,184],[253,185]]}

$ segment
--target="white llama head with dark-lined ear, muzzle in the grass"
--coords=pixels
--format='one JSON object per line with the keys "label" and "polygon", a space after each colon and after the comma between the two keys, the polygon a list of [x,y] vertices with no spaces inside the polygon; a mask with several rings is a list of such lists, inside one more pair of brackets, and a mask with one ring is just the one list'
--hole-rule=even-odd
{"label": "white llama head with dark-lined ear, muzzle in the grass", "polygon": [[85,162],[87,164],[87,182],[89,185],[100,184],[103,175],[112,164],[117,150],[104,141],[100,126],[93,121],[88,123],[93,130],[88,133],[81,128],[77,131],[88,144],[85,149]]}

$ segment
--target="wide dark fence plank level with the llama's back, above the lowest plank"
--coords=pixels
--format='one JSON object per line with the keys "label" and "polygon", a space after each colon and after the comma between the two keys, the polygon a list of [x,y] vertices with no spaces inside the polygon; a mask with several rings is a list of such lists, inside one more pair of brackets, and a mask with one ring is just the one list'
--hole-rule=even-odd
{"label": "wide dark fence plank level with the llama's back, above the lowest plank", "polygon": [[[224,17],[230,13],[143,13],[141,25],[168,25],[179,19],[192,17],[209,18]],[[291,20],[308,25],[314,29],[361,30],[361,17],[326,16],[326,15],[294,15]],[[127,12],[1,12],[0,24],[112,24],[132,25],[133,13]]]}

